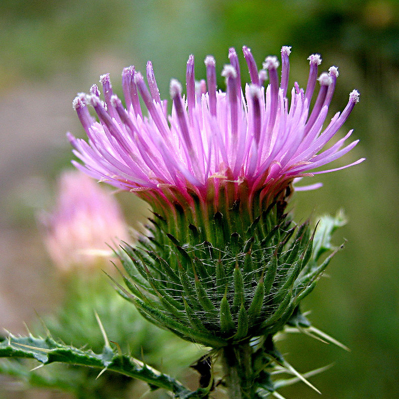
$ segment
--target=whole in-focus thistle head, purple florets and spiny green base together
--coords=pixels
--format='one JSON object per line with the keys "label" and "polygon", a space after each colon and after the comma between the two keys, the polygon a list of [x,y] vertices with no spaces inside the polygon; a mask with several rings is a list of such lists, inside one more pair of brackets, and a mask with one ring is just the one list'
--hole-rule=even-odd
{"label": "whole in-focus thistle head, purple florets and spiny green base together", "polygon": [[[187,98],[172,79],[169,117],[151,62],[149,89],[133,66],[124,69],[126,109],[113,94],[109,75],[103,75],[105,102],[96,85],[90,95],[78,94],[73,101],[89,143],[68,135],[84,164],[74,162],[78,169],[135,192],[153,207],[140,247],[124,244],[119,254],[130,291],[119,286],[121,295],[153,323],[213,348],[259,336],[271,339],[298,320],[306,326],[299,302],[331,257],[320,265],[312,258],[314,232],[309,221],[301,226],[291,221],[284,212],[286,199],[295,179],[363,161],[312,172],[358,143],[344,146],[350,131],[320,152],[359,100],[354,90],[344,111],[323,129],[336,67],[317,78],[321,58],[312,54],[306,89],[295,83],[289,102],[290,47],[281,49],[280,82],[277,57],[266,57],[258,72],[250,50],[243,47],[243,53],[250,83],[242,92],[238,57],[231,48],[230,64],[222,71],[226,93],[216,91],[212,56],[205,58],[206,82],[196,84],[191,55]],[[317,80],[320,89],[311,109]],[[89,104],[99,122],[90,116]]]}

